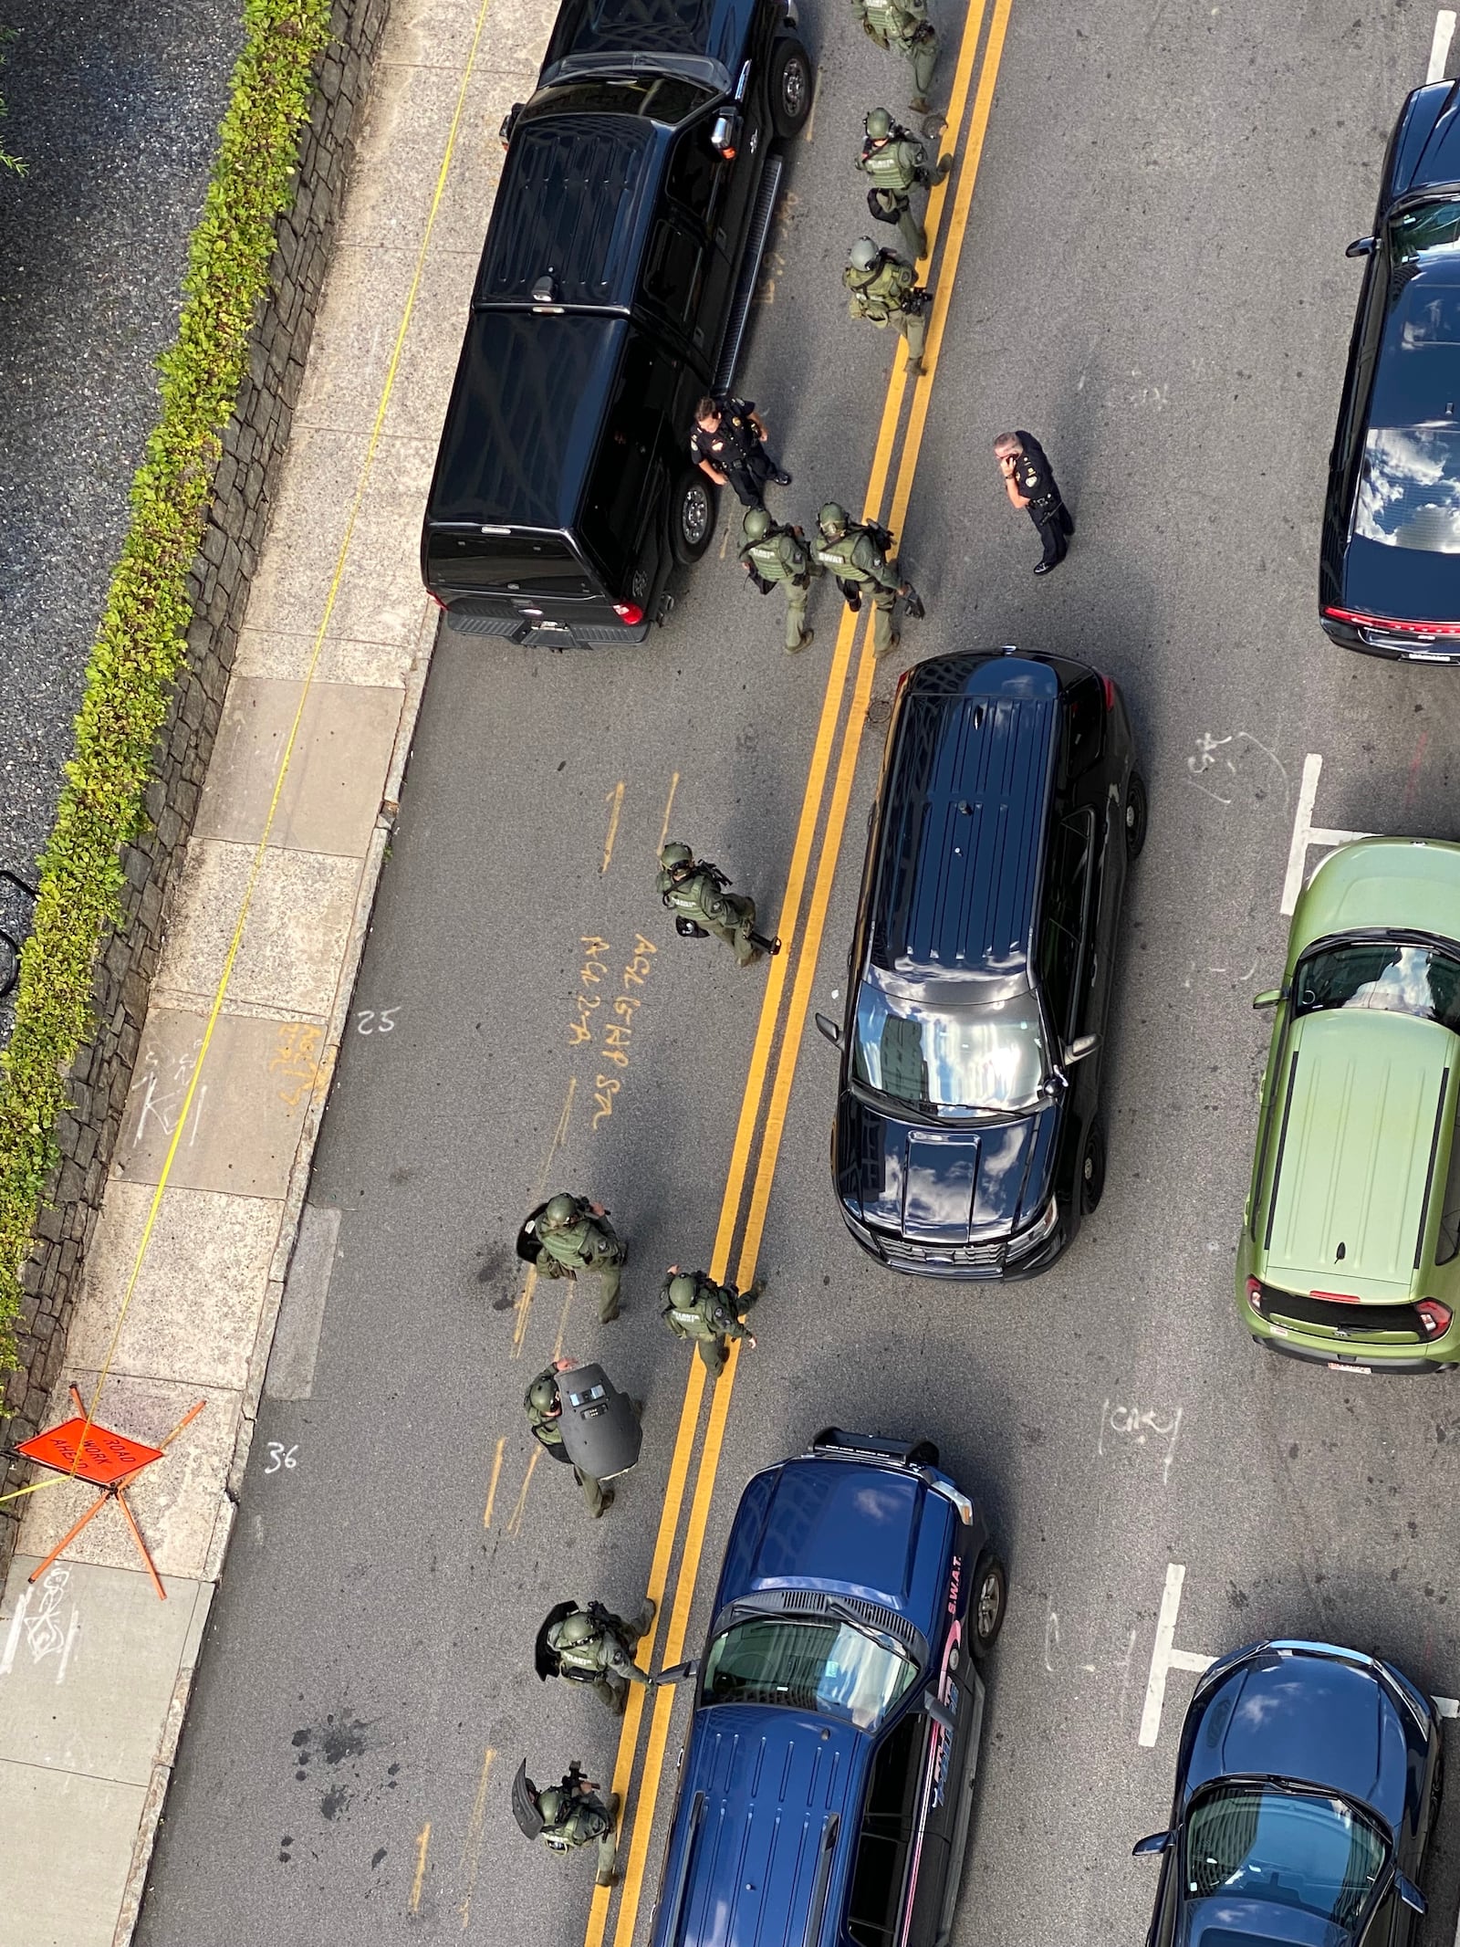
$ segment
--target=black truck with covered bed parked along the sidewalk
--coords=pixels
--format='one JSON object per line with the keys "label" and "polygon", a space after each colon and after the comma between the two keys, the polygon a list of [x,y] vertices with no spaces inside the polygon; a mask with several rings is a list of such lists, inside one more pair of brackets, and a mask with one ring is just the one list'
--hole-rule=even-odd
{"label": "black truck with covered bed parked along the sidewalk", "polygon": [[508,154],[420,572],[469,635],[642,641],[714,530],[695,401],[730,386],[812,107],[788,0],[565,0]]}

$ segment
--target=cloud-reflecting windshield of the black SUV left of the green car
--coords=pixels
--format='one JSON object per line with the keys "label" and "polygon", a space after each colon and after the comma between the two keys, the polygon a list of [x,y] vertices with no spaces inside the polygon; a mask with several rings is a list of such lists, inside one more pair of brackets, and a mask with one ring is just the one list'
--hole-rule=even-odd
{"label": "cloud-reflecting windshield of the black SUV left of the green car", "polygon": [[1040,1007],[1022,993],[983,1007],[919,1009],[866,981],[853,1073],[917,1108],[1030,1108],[1045,1081]]}

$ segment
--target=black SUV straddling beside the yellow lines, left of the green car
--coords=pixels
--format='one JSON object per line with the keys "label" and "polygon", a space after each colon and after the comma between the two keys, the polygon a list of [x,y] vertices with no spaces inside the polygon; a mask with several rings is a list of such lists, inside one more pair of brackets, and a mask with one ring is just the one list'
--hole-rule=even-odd
{"label": "black SUV straddling beside the yellow lines, left of the green car", "polygon": [[1125,703],[1059,656],[909,670],[868,824],[831,1174],[897,1271],[1030,1277],[1100,1201],[1100,1051],[1147,794]]}

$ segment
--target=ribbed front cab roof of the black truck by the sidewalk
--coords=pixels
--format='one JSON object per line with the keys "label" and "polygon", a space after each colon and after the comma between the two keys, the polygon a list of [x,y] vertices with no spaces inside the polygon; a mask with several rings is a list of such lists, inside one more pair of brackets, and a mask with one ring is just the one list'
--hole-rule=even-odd
{"label": "ribbed front cab roof of the black truck by the sidewalk", "polygon": [[640,115],[522,117],[481,253],[473,306],[627,312],[635,298],[668,130]]}

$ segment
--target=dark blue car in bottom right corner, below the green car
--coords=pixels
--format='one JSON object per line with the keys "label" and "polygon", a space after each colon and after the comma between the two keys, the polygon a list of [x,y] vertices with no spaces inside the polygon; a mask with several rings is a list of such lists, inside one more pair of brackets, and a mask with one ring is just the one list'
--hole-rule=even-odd
{"label": "dark blue car in bottom right corner, below the green car", "polygon": [[1215,1663],[1176,1760],[1149,1947],[1404,1947],[1441,1801],[1435,1706],[1378,1657],[1252,1643]]}

